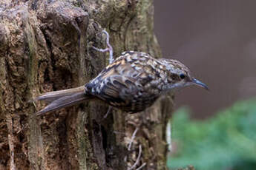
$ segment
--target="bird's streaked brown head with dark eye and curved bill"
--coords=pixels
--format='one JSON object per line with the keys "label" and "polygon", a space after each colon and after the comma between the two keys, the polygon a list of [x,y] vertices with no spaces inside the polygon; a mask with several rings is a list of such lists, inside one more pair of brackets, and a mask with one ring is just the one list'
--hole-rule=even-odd
{"label": "bird's streaked brown head with dark eye and curved bill", "polygon": [[204,89],[209,90],[206,84],[203,84],[201,81],[198,81],[191,75],[190,70],[180,61],[160,58],[160,61],[165,65],[166,69],[170,72],[168,75],[168,86],[167,89],[171,91],[175,89],[181,89],[185,86],[201,86]]}

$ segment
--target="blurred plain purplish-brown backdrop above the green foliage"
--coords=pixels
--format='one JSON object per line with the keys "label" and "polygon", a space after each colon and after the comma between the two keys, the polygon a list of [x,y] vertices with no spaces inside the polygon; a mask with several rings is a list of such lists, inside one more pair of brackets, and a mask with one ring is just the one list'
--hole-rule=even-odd
{"label": "blurred plain purplish-brown backdrop above the green foliage", "polygon": [[176,95],[194,118],[256,96],[256,1],[154,1],[163,56],[182,61],[210,92],[188,87]]}

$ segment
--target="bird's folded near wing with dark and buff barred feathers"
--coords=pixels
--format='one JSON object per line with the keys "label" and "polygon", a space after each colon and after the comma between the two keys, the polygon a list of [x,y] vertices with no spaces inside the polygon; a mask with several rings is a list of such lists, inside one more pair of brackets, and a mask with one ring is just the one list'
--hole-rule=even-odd
{"label": "bird's folded near wing with dark and buff barred feathers", "polygon": [[140,112],[160,96],[155,89],[144,88],[134,78],[121,75],[105,78],[93,92],[97,98],[127,112]]}

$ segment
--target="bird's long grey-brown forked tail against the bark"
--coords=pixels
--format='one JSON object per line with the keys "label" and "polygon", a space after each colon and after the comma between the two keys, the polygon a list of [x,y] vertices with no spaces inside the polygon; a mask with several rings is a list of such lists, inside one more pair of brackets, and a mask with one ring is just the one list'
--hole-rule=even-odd
{"label": "bird's long grey-brown forked tail against the bark", "polygon": [[44,109],[36,112],[36,115],[43,115],[47,112],[53,112],[57,109],[62,109],[67,106],[72,106],[76,103],[81,103],[88,99],[92,98],[91,96],[85,95],[85,86],[79,86],[73,89],[64,89],[55,92],[46,92],[42,95],[39,95],[36,98],[33,98],[33,101],[46,101],[49,103],[45,106]]}

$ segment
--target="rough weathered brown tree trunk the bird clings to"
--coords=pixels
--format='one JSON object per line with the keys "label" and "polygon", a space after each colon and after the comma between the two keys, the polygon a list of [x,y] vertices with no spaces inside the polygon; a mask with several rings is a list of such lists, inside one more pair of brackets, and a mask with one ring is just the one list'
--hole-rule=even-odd
{"label": "rough weathered brown tree trunk the bird clings to", "polygon": [[152,0],[0,1],[0,169],[166,169],[168,96],[145,112],[114,110],[105,119],[103,103],[36,118],[45,103],[28,102],[96,77],[108,55],[91,45],[105,47],[104,28],[115,58],[125,50],[160,58],[153,15]]}

